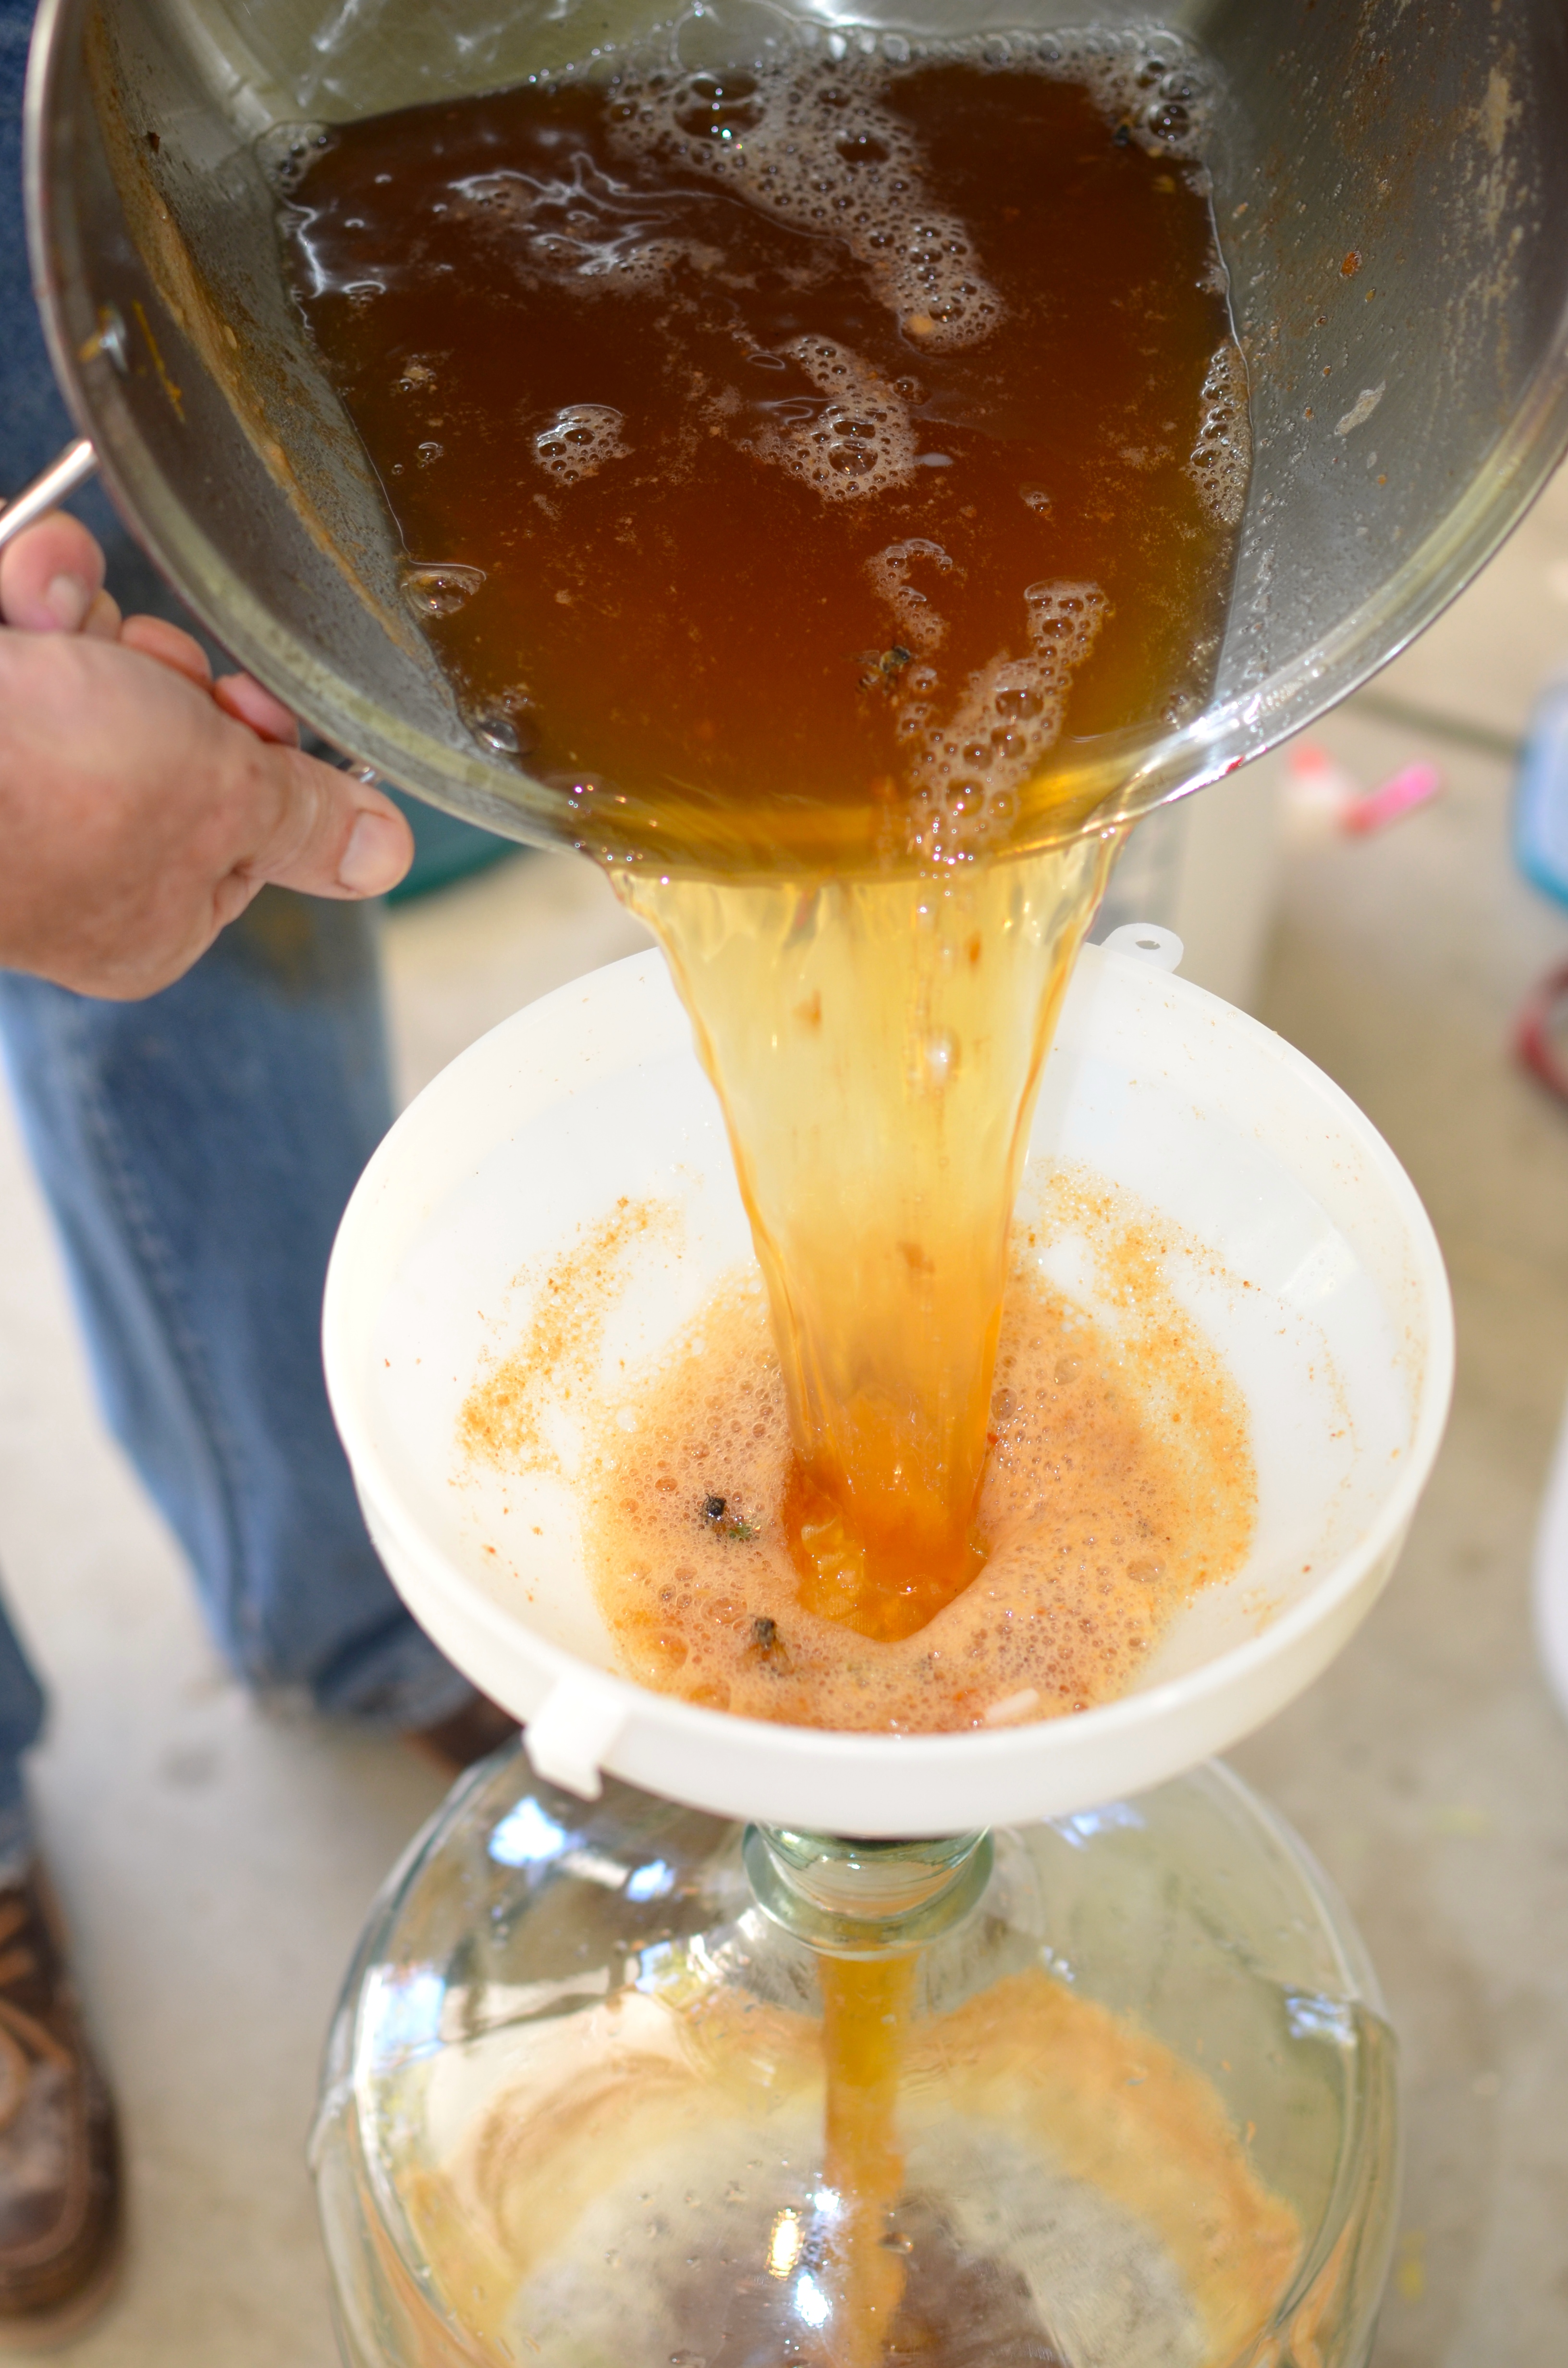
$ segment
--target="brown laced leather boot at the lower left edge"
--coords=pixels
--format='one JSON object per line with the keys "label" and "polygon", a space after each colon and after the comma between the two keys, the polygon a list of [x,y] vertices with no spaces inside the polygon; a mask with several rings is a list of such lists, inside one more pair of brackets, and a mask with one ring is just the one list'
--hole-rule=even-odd
{"label": "brown laced leather boot at the lower left edge", "polygon": [[76,2335],[109,2299],[121,2181],[43,1873],[0,1890],[0,2351]]}

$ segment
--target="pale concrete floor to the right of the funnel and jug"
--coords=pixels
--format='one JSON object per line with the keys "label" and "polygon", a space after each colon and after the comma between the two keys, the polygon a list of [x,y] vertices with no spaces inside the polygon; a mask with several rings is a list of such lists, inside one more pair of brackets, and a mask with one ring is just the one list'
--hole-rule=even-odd
{"label": "pale concrete floor to the right of the funnel and jug", "polygon": [[1568,2359],[1568,1726],[1528,1570],[1568,1383],[1568,1111],[1509,1058],[1568,914],[1514,876],[1511,767],[1395,703],[1516,734],[1568,665],[1568,478],[1490,575],[1317,739],[1364,781],[1435,758],[1445,798],[1296,855],[1260,1016],[1383,1130],[1426,1201],[1459,1385],[1367,1629],[1236,1752],[1345,1890],[1405,2051],[1405,2228],[1376,2368]]}

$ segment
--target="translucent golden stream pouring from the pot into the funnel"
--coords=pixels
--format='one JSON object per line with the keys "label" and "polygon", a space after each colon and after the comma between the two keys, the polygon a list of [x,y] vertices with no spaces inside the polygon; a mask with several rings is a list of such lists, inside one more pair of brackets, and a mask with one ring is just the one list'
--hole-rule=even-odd
{"label": "translucent golden stream pouring from the pot into the funnel", "polygon": [[1113,841],[907,881],[623,881],[730,1122],[784,1359],[808,1610],[921,1629],[973,1579],[1007,1234]]}

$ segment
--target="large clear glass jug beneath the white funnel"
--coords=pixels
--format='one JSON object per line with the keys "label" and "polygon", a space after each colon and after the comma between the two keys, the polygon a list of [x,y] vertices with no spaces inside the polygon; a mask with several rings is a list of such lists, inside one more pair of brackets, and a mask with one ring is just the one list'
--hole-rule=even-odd
{"label": "large clear glass jug beneath the white funnel", "polygon": [[[824,2153],[846,1965],[898,2131],[872,2342]],[[351,2368],[1360,2368],[1393,2039],[1220,1764],[853,1845],[585,1804],[519,1748],[369,1918],[313,2162]]]}

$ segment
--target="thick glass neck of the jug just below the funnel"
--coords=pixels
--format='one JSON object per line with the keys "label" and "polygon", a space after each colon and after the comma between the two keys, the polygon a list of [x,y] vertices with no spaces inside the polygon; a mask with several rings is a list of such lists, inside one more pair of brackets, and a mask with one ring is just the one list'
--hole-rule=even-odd
{"label": "thick glass neck of the jug just below the funnel", "polygon": [[758,1904],[829,1956],[895,1956],[952,1930],[990,1883],[990,1833],[855,1842],[831,1833],[748,1826],[746,1875]]}

